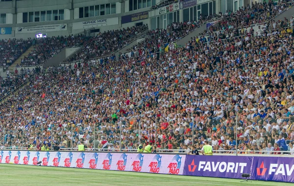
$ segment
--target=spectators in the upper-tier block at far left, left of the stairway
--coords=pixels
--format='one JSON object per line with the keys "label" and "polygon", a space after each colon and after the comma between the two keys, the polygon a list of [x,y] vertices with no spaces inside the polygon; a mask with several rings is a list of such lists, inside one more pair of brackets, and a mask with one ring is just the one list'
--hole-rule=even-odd
{"label": "spectators in the upper-tier block at far left, left of the stairway", "polygon": [[8,67],[17,60],[32,45],[33,40],[28,38],[0,40],[0,67]]}

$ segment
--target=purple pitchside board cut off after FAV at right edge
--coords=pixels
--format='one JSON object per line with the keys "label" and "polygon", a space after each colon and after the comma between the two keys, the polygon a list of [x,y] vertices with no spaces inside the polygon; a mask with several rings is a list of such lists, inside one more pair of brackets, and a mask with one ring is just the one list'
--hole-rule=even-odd
{"label": "purple pitchside board cut off after FAV at right edge", "polygon": [[250,179],[294,183],[294,158],[253,157]]}

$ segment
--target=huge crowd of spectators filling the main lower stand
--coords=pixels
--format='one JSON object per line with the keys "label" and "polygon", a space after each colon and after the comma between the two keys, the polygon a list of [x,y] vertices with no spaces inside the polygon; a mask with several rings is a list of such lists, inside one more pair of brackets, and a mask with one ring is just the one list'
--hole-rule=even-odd
{"label": "huge crowd of spectators filling the main lower stand", "polygon": [[46,69],[0,105],[4,146],[294,154],[292,24]]}

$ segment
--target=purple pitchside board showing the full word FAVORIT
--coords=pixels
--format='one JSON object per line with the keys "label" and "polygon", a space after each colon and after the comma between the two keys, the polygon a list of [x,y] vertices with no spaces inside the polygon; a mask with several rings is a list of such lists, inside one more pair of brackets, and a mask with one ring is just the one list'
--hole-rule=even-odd
{"label": "purple pitchside board showing the full word FAVORIT", "polygon": [[242,178],[250,173],[252,157],[187,155],[183,175]]}

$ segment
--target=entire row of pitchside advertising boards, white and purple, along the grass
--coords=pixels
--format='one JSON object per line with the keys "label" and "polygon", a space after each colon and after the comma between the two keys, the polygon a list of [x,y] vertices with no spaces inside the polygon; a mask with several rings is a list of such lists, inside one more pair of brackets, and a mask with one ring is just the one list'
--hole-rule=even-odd
{"label": "entire row of pitchside advertising boards, white and purple, along the grass", "polygon": [[294,182],[294,158],[122,152],[0,151],[0,163]]}

